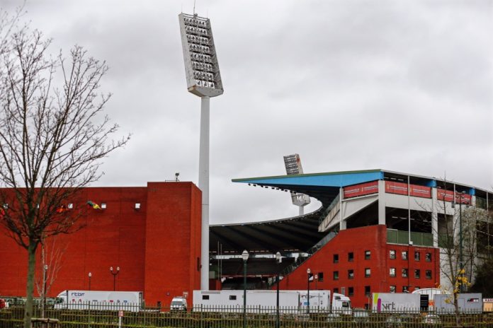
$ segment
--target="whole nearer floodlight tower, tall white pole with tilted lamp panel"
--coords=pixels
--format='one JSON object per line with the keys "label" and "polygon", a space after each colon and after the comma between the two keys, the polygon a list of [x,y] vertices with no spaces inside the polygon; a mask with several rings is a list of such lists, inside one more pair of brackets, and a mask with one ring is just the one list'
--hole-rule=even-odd
{"label": "whole nearer floodlight tower, tall white pole with tilted lamp panel", "polygon": [[221,74],[209,18],[179,15],[188,92],[200,97],[198,187],[202,191],[200,289],[209,290],[209,100],[222,95]]}

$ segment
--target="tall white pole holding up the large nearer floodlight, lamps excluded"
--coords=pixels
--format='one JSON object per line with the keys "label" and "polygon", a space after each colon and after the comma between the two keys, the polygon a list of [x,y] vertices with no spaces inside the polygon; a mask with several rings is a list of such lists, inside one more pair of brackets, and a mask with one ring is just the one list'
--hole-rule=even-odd
{"label": "tall white pole holding up the large nearer floodlight, lamps excluded", "polygon": [[202,243],[200,289],[209,290],[209,97],[200,98],[200,151],[198,188],[202,191]]}

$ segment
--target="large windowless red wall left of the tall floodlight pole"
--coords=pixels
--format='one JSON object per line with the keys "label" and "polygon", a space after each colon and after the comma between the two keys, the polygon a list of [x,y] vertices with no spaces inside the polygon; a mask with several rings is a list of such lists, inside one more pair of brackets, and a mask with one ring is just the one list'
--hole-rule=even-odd
{"label": "large windowless red wall left of the tall floodlight pole", "polygon": [[[47,241],[61,253],[49,296],[65,289],[113,290],[109,268],[120,267],[117,291],[143,291],[147,304],[200,288],[201,193],[191,182],[149,182],[147,187],[91,187],[80,199],[106,204],[81,217],[86,227]],[[135,204],[140,209],[135,209]],[[0,295],[25,295],[27,254],[0,233]],[[52,256],[54,257],[54,256]],[[40,261],[38,260],[38,264]],[[39,274],[40,266],[37,266]],[[52,272],[48,274],[50,277]]]}

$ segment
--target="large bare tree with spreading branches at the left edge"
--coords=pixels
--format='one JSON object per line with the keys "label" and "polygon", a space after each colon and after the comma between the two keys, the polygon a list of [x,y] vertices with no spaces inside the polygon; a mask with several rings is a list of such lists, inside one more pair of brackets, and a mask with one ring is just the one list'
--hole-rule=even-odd
{"label": "large bare tree with spreading branches at the left edge", "polygon": [[118,130],[103,115],[110,95],[98,93],[106,63],[78,46],[68,59],[61,52],[52,59],[49,46],[40,32],[22,29],[8,38],[0,66],[0,224],[28,253],[25,328],[33,316],[36,249],[81,228],[78,192],[99,179],[102,158],[129,139],[110,139]]}

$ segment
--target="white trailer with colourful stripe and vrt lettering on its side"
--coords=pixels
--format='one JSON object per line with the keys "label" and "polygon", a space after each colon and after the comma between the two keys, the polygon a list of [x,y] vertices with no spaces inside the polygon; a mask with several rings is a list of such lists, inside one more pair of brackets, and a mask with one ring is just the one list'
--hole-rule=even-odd
{"label": "white trailer with colourful stripe and vrt lettering on its side", "polygon": [[409,293],[373,293],[373,312],[406,312],[418,313],[421,310],[420,295]]}

